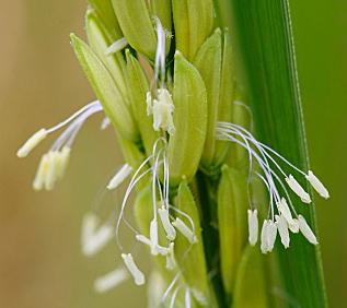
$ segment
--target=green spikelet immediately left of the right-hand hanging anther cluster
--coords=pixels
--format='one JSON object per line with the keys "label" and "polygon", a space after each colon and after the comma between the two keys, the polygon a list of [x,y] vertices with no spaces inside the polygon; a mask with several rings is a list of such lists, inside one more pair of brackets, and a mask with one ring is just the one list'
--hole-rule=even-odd
{"label": "green spikelet immediately left of the right-hand hanging anther cluster", "polygon": [[218,187],[218,226],[221,276],[228,294],[232,293],[241,251],[247,240],[247,188],[243,175],[222,166]]}

